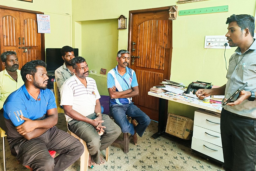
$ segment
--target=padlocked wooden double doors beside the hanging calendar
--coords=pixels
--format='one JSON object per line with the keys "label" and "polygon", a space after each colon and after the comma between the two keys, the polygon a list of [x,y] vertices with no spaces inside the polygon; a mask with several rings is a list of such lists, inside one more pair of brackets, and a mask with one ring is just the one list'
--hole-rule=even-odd
{"label": "padlocked wooden double doors beside the hanging calendar", "polygon": [[[0,5],[1,54],[15,51],[20,62],[19,69],[31,60],[45,61],[44,34],[37,33],[36,13],[43,14]],[[1,65],[0,71],[3,69]]]}

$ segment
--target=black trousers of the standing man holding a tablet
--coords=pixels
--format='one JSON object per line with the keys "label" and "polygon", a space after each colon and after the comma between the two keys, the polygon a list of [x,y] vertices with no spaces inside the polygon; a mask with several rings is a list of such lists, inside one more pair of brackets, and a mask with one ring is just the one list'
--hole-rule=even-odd
{"label": "black trousers of the standing man holding a tablet", "polygon": [[255,121],[222,109],[220,131],[226,170],[255,171]]}

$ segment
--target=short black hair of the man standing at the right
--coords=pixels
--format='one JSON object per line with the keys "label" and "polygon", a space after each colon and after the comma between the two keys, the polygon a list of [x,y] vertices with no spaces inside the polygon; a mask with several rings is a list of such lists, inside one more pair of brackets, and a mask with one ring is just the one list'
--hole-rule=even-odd
{"label": "short black hair of the man standing at the right", "polygon": [[241,28],[241,31],[248,28],[251,36],[254,36],[254,17],[248,14],[235,15],[227,18],[226,24],[236,21],[237,25]]}

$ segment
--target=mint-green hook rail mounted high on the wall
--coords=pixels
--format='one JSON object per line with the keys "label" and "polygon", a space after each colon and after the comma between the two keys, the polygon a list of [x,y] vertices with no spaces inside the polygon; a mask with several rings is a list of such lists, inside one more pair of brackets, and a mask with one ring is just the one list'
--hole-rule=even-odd
{"label": "mint-green hook rail mounted high on the wall", "polygon": [[193,14],[220,13],[220,12],[228,12],[228,5],[180,10],[179,16],[193,15]]}

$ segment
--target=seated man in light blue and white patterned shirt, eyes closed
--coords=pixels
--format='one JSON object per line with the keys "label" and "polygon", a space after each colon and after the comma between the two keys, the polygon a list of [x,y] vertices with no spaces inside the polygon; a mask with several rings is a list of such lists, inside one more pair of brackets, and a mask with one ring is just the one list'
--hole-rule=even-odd
{"label": "seated man in light blue and white patterned shirt, eyes closed", "polygon": [[[110,96],[110,115],[115,119],[123,133],[130,133],[137,145],[137,135],[142,136],[150,118],[132,102],[132,97],[139,95],[139,87],[134,70],[128,68],[130,52],[119,50],[116,60],[118,65],[107,73],[107,89]],[[126,115],[132,117],[131,123]],[[138,122],[136,123],[134,119]]]}

